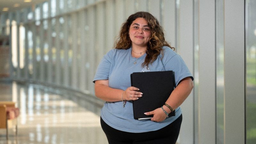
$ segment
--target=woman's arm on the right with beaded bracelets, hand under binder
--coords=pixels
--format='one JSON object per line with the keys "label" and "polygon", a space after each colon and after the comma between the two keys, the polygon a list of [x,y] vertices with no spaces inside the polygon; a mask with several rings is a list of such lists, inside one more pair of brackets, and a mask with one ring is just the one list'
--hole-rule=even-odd
{"label": "woman's arm on the right with beaded bracelets, hand under binder", "polygon": [[[172,91],[170,97],[165,103],[171,106],[173,110],[178,108],[186,100],[193,87],[194,84],[190,77],[183,78],[178,86]],[[171,109],[167,106],[164,105],[163,108],[167,113],[171,113]],[[166,114],[162,108],[157,108],[153,111],[147,112],[145,115],[154,115],[153,118],[151,118],[151,121],[155,122],[161,122],[166,118]]]}

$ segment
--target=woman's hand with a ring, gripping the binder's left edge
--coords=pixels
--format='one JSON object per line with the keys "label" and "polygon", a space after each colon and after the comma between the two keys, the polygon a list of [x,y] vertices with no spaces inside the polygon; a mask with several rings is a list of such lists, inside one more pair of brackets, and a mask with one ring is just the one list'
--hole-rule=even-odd
{"label": "woman's hand with a ring, gripping the binder's left edge", "polygon": [[136,87],[128,87],[124,93],[123,93],[123,99],[124,100],[138,100],[140,97],[142,97],[142,92],[138,92],[140,89]]}

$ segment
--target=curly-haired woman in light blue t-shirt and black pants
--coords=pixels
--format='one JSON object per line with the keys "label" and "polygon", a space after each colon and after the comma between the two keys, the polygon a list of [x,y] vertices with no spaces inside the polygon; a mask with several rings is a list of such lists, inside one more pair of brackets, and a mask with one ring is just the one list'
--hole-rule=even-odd
{"label": "curly-haired woman in light blue t-shirt and black pants", "polygon": [[[173,48],[174,49],[174,48]],[[143,96],[132,87],[133,72],[172,70],[177,87],[162,108],[146,112],[149,120],[133,118],[132,100]],[[122,25],[115,49],[100,62],[93,82],[95,95],[105,100],[101,127],[109,143],[176,143],[182,121],[180,105],[193,88],[184,61],[165,41],[163,28],[148,12],[132,14]],[[175,116],[167,114],[175,110]]]}

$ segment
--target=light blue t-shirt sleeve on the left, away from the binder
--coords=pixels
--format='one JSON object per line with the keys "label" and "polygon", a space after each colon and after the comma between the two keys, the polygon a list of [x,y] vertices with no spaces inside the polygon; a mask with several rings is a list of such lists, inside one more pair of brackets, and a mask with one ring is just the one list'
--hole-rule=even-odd
{"label": "light blue t-shirt sleeve on the left, away from the binder", "polygon": [[109,51],[102,60],[100,61],[100,64],[96,70],[95,76],[93,78],[93,83],[95,83],[96,80],[107,80],[109,76],[109,71],[112,63],[114,50]]}

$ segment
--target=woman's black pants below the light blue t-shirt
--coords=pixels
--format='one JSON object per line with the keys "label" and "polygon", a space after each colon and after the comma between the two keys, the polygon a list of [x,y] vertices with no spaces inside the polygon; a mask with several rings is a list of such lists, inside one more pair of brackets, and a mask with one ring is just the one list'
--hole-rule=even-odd
{"label": "woman's black pants below the light blue t-shirt", "polygon": [[166,127],[152,132],[123,132],[106,124],[100,117],[100,124],[109,144],[175,144],[182,122],[182,115]]}

